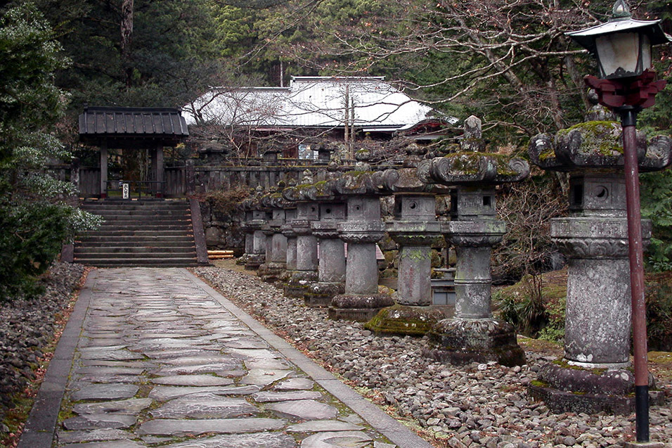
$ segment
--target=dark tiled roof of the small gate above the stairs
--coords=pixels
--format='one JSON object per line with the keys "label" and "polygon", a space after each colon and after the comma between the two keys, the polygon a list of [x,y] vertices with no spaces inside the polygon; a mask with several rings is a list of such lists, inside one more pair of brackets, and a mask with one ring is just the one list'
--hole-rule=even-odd
{"label": "dark tiled roof of the small gate above the stairs", "polygon": [[79,137],[85,143],[153,141],[168,146],[188,135],[175,108],[86,107],[79,115]]}

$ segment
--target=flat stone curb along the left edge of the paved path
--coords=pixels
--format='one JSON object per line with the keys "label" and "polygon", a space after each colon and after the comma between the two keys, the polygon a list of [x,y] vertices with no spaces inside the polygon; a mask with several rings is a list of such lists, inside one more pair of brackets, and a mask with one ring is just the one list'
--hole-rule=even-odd
{"label": "flat stone curb along the left edge of the paved path", "polygon": [[70,318],[58,340],[53,358],[49,362],[44,381],[42,382],[30,415],[26,421],[23,433],[17,448],[50,448],[53,434],[56,430],[56,421],[60,411],[60,402],[63,401],[65,385],[70,375],[75,348],[82,333],[82,324],[86,311],[91,302],[91,290],[96,286],[97,272],[89,272],[86,283],[79,291],[79,298],[75,303]]}

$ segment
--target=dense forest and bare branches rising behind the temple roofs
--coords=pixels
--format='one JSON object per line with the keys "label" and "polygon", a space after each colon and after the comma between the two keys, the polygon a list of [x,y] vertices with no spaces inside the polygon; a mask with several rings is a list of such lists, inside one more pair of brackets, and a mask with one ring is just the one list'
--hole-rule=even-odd
{"label": "dense forest and bare branches rising behind the temple roofs", "polygon": [[[564,32],[607,20],[613,6],[611,0],[34,1],[70,60],[56,75],[57,87],[70,95],[70,122],[84,103],[179,107],[210,86],[384,75],[437,110],[482,117],[495,141],[515,146],[582,119],[588,107],[582,78],[594,72],[593,61]],[[669,1],[631,8],[635,18],[664,19],[672,33]],[[669,48],[659,50],[657,65],[670,77]],[[659,103],[647,112],[647,124],[669,129],[671,102]]]}

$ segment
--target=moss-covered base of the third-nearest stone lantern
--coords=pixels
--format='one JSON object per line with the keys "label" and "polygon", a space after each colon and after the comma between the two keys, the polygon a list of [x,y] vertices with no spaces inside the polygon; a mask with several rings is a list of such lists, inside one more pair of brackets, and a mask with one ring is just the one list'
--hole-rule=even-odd
{"label": "moss-covered base of the third-nearest stone lantern", "polygon": [[396,304],[381,309],[364,327],[377,335],[424,336],[432,325],[445,318],[444,312],[434,307]]}

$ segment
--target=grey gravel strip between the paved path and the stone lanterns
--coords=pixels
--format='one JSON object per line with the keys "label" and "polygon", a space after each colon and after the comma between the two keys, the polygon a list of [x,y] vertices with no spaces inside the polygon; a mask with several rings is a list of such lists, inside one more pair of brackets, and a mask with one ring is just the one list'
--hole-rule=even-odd
{"label": "grey gravel strip between the paved path and the stone lanterns", "polygon": [[[302,306],[278,288],[240,271],[204,267],[195,273],[238,306],[373,402],[396,412],[437,447],[622,447],[633,440],[634,416],[550,414],[529,402],[526,385],[556,359],[527,350],[528,364],[455,367],[422,357],[427,341],[376,337],[361,324],[330,321],[325,309]],[[672,385],[659,381],[667,391]],[[652,407],[651,440],[672,447],[672,411]]]}

